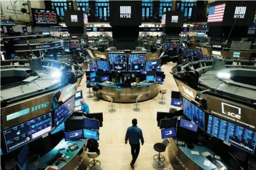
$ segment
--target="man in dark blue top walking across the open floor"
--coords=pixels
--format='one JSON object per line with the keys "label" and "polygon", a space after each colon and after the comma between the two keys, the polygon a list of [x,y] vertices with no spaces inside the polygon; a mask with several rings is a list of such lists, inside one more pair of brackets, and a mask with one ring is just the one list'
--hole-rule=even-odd
{"label": "man in dark blue top walking across the open floor", "polygon": [[137,127],[137,119],[132,119],[132,126],[128,127],[127,129],[125,139],[126,144],[128,140],[132,152],[132,162],[130,163],[130,166],[134,168],[135,161],[137,160],[138,154],[140,153],[140,141],[141,145],[144,144],[142,131]]}

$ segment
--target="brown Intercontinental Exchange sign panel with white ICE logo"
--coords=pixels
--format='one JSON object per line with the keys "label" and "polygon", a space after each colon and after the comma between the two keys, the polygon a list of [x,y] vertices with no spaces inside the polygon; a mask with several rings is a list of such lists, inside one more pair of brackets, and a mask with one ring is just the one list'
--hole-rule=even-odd
{"label": "brown Intercontinental Exchange sign panel with white ICE logo", "polygon": [[253,108],[213,96],[207,96],[207,104],[211,115],[256,132],[256,110]]}

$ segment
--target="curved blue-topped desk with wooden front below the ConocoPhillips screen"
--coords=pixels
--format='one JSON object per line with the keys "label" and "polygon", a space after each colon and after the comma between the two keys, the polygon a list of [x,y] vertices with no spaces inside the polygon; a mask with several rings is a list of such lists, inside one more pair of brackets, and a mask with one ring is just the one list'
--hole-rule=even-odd
{"label": "curved blue-topped desk with wooden front below the ConocoPhillips screen", "polygon": [[[175,170],[211,170],[217,168],[213,163],[211,163],[209,167],[203,165],[204,161],[208,159],[201,155],[202,152],[209,152],[212,157],[214,155],[214,152],[207,147],[194,144],[194,149],[188,149],[187,144],[185,147],[177,146],[176,140],[173,138],[169,138],[168,140],[170,141],[170,145],[168,146],[168,157]],[[191,151],[198,151],[200,155],[192,155]],[[225,166],[224,163],[221,161],[219,161],[219,163],[223,165],[221,170],[227,169],[227,166]]]}

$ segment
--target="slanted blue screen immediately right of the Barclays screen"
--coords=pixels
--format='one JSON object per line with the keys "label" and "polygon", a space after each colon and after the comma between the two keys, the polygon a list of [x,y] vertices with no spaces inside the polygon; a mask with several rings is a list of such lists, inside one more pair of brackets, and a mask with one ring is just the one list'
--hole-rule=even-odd
{"label": "slanted blue screen immediately right of the Barclays screen", "polygon": [[75,110],[75,96],[70,97],[55,110],[55,128],[64,122]]}

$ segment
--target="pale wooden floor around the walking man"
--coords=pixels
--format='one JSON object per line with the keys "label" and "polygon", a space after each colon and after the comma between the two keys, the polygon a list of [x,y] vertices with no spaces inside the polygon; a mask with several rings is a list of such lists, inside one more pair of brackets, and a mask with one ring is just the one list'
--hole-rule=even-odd
{"label": "pale wooden floor around the walking man", "polygon": [[[108,102],[99,101],[94,102],[94,98],[86,98],[86,83],[85,77],[81,81],[81,86],[78,90],[83,90],[83,96],[85,102],[89,105],[91,113],[103,112],[104,122],[103,127],[100,127],[99,135],[99,149],[100,156],[97,158],[101,162],[101,168],[104,170],[129,170],[130,161],[132,155],[130,154],[129,144],[124,143],[127,127],[132,126],[132,119],[138,119],[138,127],[141,128],[145,140],[145,144],[140,147],[140,155],[135,163],[134,169],[151,170],[152,157],[157,154],[154,151],[154,144],[162,142],[161,132],[157,127],[156,112],[169,112],[171,90],[178,91],[175,80],[170,74],[171,68],[175,66],[173,63],[168,63],[164,66],[165,82],[164,85],[160,85],[160,89],[168,89],[165,94],[166,104],[160,105],[159,96],[146,102],[140,103],[140,112],[134,112],[132,110],[132,104],[115,104],[116,112],[108,112]],[[175,107],[174,107],[175,108]],[[177,108],[179,109],[179,108]],[[163,153],[166,158],[166,169],[173,169],[170,165],[170,161],[167,158],[167,151]]]}

